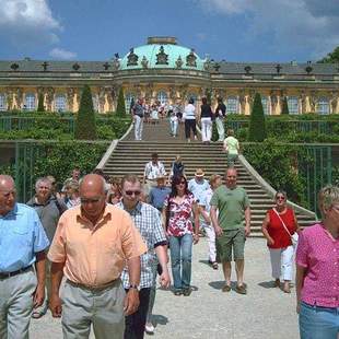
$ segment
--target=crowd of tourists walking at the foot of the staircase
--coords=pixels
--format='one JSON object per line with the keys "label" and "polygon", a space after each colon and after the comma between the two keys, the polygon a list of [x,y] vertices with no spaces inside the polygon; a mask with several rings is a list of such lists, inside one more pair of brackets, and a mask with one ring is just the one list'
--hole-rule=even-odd
{"label": "crowd of tourists walking at the foot of the staircase", "polygon": [[[188,179],[180,156],[166,172],[156,153],[142,178],[110,178],[102,170],[81,176],[74,168],[60,189],[52,176],[38,178],[26,204],[16,202],[13,178],[0,175],[0,338],[27,338],[31,317],[48,306],[61,317],[63,338],[89,338],[91,327],[101,339],[153,334],[157,276],[175,296],[195,293],[192,246],[202,235],[211,269],[222,268],[222,292],[232,291],[234,261],[235,291],[247,294],[250,201],[234,161],[224,178],[209,179],[202,168]],[[303,339],[339,332],[338,187],[320,190],[319,209],[322,221],[301,231],[279,190],[262,221],[273,285],[284,293],[291,293],[295,255]]]}

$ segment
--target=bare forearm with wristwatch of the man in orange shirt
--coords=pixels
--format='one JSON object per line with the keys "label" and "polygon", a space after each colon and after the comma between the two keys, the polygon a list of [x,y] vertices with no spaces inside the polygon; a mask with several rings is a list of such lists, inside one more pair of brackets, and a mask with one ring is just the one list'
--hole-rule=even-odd
{"label": "bare forearm with wristwatch of the man in orange shirt", "polygon": [[[133,257],[127,260],[129,283],[131,285],[139,285],[140,283],[140,257]],[[137,289],[129,289],[124,301],[125,315],[133,314],[139,307],[139,291]]]}

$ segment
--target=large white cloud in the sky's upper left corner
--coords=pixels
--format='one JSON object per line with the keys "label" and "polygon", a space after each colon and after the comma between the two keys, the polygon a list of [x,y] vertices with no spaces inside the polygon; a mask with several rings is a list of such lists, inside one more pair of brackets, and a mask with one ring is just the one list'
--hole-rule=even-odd
{"label": "large white cloud in the sky's upper left corner", "polygon": [[61,30],[47,0],[0,0],[0,34],[13,44],[55,44]]}

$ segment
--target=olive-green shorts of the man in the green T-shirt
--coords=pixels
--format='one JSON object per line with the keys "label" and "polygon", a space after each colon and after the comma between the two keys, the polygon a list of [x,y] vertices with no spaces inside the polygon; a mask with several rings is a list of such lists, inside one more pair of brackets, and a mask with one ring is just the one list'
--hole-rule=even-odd
{"label": "olive-green shorts of the man in the green T-shirt", "polygon": [[215,239],[217,245],[217,261],[232,261],[232,249],[234,261],[244,259],[245,247],[245,230],[227,230]]}

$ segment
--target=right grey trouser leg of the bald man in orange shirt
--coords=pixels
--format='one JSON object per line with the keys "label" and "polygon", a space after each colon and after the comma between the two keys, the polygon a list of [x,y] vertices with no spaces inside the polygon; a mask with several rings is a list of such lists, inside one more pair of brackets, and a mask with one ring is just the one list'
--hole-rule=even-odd
{"label": "right grey trouser leg of the bald man in orange shirt", "polygon": [[124,300],[125,290],[120,280],[116,280],[106,289],[93,293],[93,330],[95,338],[110,339],[124,338],[125,315]]}

